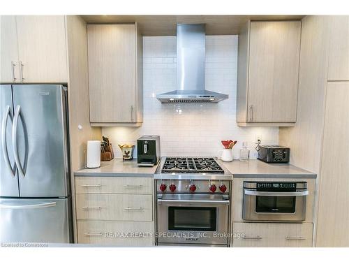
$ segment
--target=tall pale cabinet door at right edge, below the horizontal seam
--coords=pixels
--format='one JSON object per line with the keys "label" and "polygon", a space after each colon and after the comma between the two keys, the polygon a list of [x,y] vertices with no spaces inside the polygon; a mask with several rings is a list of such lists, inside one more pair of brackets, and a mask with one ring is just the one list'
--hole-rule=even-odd
{"label": "tall pale cabinet door at right edge, below the horizontal seam", "polygon": [[349,247],[349,82],[328,82],[317,247]]}

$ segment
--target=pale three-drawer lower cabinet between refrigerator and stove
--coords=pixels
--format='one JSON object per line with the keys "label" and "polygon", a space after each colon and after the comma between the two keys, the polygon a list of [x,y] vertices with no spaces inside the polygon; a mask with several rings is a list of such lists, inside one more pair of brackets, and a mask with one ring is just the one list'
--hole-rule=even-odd
{"label": "pale three-drawer lower cabinet between refrigerator and stove", "polygon": [[77,242],[148,247],[154,245],[151,177],[75,177]]}

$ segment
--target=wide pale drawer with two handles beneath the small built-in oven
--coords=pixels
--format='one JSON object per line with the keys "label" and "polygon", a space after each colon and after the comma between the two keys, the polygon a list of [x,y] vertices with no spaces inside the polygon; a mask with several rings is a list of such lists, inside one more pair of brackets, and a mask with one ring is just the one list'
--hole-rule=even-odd
{"label": "wide pale drawer with two handles beneath the small built-in oven", "polygon": [[234,223],[232,247],[312,247],[313,224]]}

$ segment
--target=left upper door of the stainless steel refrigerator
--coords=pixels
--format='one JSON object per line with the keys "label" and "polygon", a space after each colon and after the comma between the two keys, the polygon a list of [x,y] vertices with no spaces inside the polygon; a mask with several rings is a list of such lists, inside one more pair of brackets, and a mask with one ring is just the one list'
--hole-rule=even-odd
{"label": "left upper door of the stainless steel refrigerator", "polygon": [[19,196],[17,168],[12,150],[12,87],[0,85],[0,196]]}

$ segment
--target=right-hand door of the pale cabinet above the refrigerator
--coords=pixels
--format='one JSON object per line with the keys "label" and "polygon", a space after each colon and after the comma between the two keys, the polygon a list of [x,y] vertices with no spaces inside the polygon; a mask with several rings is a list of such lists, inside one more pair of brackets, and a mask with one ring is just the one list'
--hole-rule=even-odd
{"label": "right-hand door of the pale cabinet above the refrigerator", "polygon": [[63,15],[19,15],[18,53],[22,82],[68,82]]}

